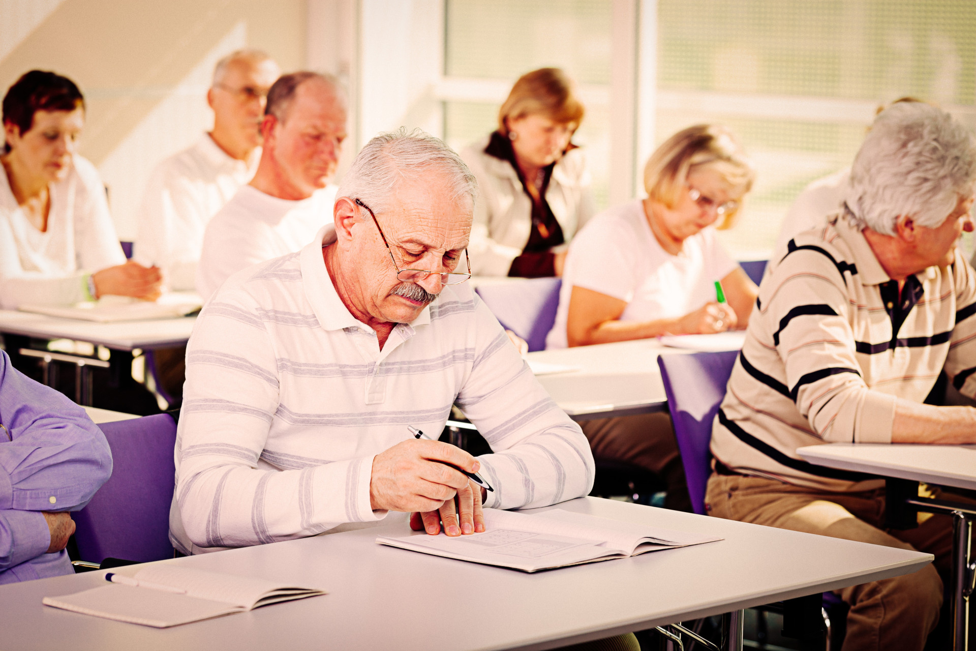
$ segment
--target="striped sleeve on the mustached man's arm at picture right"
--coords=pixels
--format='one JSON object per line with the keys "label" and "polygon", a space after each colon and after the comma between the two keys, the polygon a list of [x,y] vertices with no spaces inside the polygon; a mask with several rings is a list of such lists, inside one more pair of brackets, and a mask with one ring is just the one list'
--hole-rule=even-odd
{"label": "striped sleeve on the mustached man's arm at picture right", "polygon": [[478,461],[495,509],[544,507],[590,493],[594,464],[580,427],[556,406],[488,308],[477,302],[475,356],[457,405],[491,445]]}

